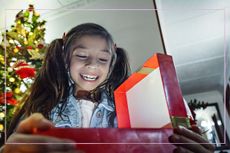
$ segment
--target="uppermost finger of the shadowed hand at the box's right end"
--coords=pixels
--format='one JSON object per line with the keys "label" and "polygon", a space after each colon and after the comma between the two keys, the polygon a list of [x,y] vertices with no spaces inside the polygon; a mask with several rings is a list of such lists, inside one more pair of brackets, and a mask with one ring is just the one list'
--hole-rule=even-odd
{"label": "uppermost finger of the shadowed hand at the box's right end", "polygon": [[[204,146],[205,148],[209,149],[209,150],[214,150],[214,146],[212,144],[210,144],[206,139],[204,139],[201,135],[185,128],[185,127],[179,127],[174,129],[174,133],[178,134],[180,136],[186,137],[188,138],[188,140],[191,140],[192,143],[200,143],[202,146]],[[187,139],[186,139],[187,140]],[[184,142],[182,141],[182,143],[191,143],[189,142]]]}

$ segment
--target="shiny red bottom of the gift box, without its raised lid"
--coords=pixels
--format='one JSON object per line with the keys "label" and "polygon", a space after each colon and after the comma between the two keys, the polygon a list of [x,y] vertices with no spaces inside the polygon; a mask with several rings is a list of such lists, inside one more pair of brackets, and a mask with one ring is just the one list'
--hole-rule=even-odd
{"label": "shiny red bottom of the gift box, without its raised lid", "polygon": [[76,149],[85,153],[172,153],[175,146],[168,142],[172,132],[149,128],[53,128],[34,134],[71,139]]}

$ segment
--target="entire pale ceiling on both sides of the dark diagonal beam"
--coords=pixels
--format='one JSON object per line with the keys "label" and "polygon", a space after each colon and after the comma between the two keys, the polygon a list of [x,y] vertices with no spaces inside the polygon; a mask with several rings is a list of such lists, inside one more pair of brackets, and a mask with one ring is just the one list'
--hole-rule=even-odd
{"label": "entire pale ceiling on both sides of the dark diagonal beam", "polygon": [[[1,0],[0,29],[13,24],[16,12],[29,3],[48,21],[47,42],[91,21],[105,26],[118,46],[129,52],[133,71],[154,52],[163,52],[152,0]],[[222,92],[230,1],[156,0],[156,4],[165,48],[173,56],[183,94]]]}

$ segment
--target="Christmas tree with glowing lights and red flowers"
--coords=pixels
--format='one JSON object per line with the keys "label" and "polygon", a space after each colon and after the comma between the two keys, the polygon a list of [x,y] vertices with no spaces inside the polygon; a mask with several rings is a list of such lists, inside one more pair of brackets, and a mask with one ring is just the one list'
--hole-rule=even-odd
{"label": "Christmas tree with glowing lights and red flowers", "polygon": [[[6,30],[0,44],[0,133],[14,114],[16,106],[27,94],[42,65],[45,53],[45,23],[29,5],[21,10],[15,24]],[[6,114],[5,114],[6,113]],[[3,139],[3,137],[1,137]]]}

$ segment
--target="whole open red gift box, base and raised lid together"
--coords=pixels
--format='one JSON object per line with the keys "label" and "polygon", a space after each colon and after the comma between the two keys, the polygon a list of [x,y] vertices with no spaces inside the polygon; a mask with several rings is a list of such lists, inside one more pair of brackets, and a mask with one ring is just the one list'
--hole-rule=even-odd
{"label": "whole open red gift box, base and raised lid together", "polygon": [[190,127],[172,57],[155,54],[114,93],[118,128],[54,128],[86,153],[170,153],[173,127]]}

